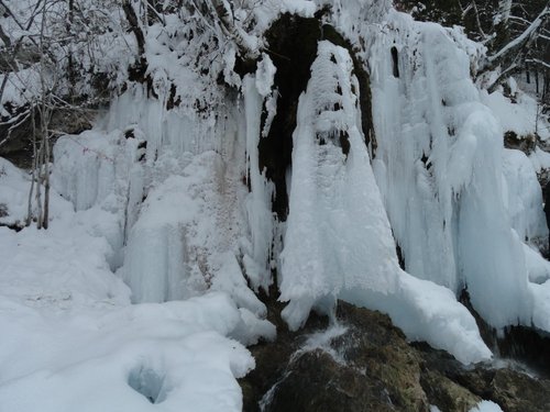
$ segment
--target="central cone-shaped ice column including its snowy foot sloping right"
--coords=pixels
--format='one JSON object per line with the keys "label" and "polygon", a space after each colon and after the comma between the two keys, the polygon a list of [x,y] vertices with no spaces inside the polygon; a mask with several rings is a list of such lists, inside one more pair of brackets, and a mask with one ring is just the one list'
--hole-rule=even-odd
{"label": "central cone-shaped ice column including its snowy foot sloping right", "polygon": [[293,135],[290,213],[280,255],[283,318],[297,329],[343,299],[392,316],[411,339],[469,364],[491,357],[453,293],[404,272],[361,131],[348,51],[320,42]]}

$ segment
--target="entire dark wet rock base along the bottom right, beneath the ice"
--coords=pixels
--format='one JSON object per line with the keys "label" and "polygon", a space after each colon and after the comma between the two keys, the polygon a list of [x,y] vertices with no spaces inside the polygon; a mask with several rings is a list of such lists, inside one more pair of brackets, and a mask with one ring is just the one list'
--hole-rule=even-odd
{"label": "entire dark wet rock base along the bottom right, beneath the ice", "polygon": [[279,323],[275,343],[251,348],[256,369],[241,381],[244,411],[418,412],[436,405],[463,412],[482,399],[503,411],[550,410],[549,380],[512,367],[464,368],[427,344],[408,344],[380,312],[339,302],[336,318],[338,326],[327,330],[326,320],[311,316],[295,334]]}

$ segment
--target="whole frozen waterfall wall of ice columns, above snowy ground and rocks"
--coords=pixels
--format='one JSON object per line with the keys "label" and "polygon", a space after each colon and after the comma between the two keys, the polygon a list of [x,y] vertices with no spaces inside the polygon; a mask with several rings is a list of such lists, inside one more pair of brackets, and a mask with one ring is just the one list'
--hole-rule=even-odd
{"label": "whole frozen waterfall wall of ice columns, above snowy ground and rocks", "polygon": [[[77,209],[113,215],[103,235],[133,301],[213,289],[263,316],[254,291],[276,281],[293,329],[312,308],[330,313],[344,299],[388,312],[410,338],[465,363],[490,352],[457,302],[464,290],[495,327],[547,330],[548,265],[524,244],[548,233],[540,189],[529,164],[504,151],[503,130],[481,102],[470,71],[479,47],[387,4],[336,3],[318,18],[314,5],[279,9],[328,24],[314,44],[310,79],[298,85],[292,163],[283,170],[287,219],[272,212],[277,188],[260,169],[261,140],[285,121],[270,45],[257,68],[235,80],[238,94],[183,67],[172,79],[182,102],[170,110],[162,92],[174,68],[155,57],[152,76],[165,76],[157,98],[135,85],[94,132],[57,143],[55,187]],[[262,40],[277,19],[266,11],[254,10],[263,18],[251,36]],[[332,26],[348,48],[322,40]],[[167,45],[151,42],[163,56]],[[234,60],[223,62],[226,79],[237,79],[228,71]],[[372,142],[355,62],[369,73]],[[212,103],[198,110],[205,90]]]}

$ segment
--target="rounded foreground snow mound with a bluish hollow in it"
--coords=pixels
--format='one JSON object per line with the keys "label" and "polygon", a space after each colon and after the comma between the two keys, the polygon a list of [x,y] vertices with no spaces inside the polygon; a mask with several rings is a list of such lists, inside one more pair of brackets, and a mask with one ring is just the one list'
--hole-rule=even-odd
{"label": "rounded foreground snow mound with a bluish hollow in it", "polygon": [[[0,361],[8,366],[0,375],[6,410],[242,409],[235,378],[254,360],[224,337],[240,322],[227,296],[92,309],[70,318],[6,300],[0,308],[8,337],[0,343]],[[13,357],[23,349],[25,356]]]}

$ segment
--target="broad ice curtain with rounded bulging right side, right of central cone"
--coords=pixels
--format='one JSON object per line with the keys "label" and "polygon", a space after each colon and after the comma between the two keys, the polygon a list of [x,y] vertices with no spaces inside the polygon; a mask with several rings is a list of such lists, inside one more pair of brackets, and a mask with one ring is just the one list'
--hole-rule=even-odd
{"label": "broad ice curtain with rounded bulging right side, right of central cone", "polygon": [[394,13],[387,29],[370,60],[375,171],[406,269],[455,292],[466,287],[494,326],[529,322],[524,249],[505,207],[502,130],[480,103],[469,56],[437,24]]}

